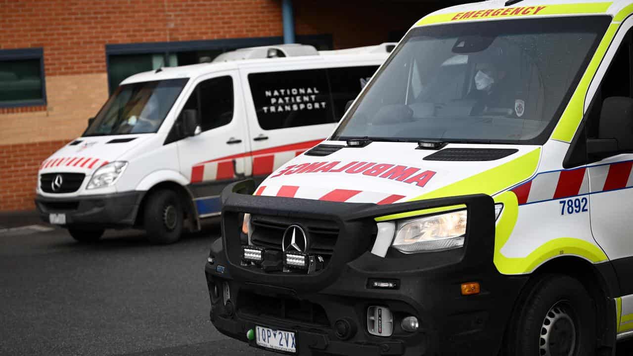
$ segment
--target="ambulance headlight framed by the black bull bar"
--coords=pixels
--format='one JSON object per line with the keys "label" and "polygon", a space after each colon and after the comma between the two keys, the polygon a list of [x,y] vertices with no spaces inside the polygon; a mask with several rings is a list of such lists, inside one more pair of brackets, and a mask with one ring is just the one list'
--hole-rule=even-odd
{"label": "ambulance headlight framed by the black bull bar", "polygon": [[[503,204],[494,206],[495,219],[501,215]],[[464,246],[467,210],[419,217],[396,222],[396,236],[392,247],[403,253],[453,250]]]}

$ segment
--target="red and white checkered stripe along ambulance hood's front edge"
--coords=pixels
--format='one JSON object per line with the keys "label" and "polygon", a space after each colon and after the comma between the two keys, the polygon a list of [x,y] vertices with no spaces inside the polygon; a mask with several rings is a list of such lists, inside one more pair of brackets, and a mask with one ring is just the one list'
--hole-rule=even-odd
{"label": "red and white checkered stripe along ambulance hood's front edge", "polygon": [[298,186],[260,186],[255,192],[255,195],[283,196],[285,198],[304,198],[346,203],[376,203],[378,205],[396,203],[404,198],[404,195],[374,191]]}

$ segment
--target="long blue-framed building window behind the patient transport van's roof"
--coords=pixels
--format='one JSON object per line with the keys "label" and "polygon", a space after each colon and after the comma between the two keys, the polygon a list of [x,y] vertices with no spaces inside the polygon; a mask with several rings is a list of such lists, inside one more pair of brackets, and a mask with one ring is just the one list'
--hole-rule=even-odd
{"label": "long blue-framed building window behind the patient transport van's roof", "polygon": [[[110,93],[130,75],[161,67],[176,67],[212,61],[216,56],[237,48],[270,46],[282,43],[282,37],[216,39],[208,41],[147,42],[108,44],[108,87]],[[318,50],[332,49],[332,35],[298,35],[297,42]]]}

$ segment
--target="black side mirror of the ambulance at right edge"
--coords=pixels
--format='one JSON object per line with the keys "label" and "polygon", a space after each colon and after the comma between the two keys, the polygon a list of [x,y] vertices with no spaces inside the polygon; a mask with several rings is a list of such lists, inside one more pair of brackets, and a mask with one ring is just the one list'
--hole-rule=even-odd
{"label": "black side mirror of the ambulance at right edge", "polygon": [[633,151],[633,99],[606,98],[600,112],[598,138],[587,140],[587,153],[608,157]]}

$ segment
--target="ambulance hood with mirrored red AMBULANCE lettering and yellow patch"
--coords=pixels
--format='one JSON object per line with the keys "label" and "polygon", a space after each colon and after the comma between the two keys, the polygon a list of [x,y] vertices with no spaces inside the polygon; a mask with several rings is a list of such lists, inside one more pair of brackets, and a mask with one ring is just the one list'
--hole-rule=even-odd
{"label": "ambulance hood with mirrored red AMBULANCE lettering and yellow patch", "polygon": [[[322,144],[345,143],[324,141]],[[541,146],[449,144],[439,151],[416,143],[373,142],[326,156],[310,151],[285,163],[255,194],[348,203],[407,200],[484,193],[493,195],[529,179]]]}

